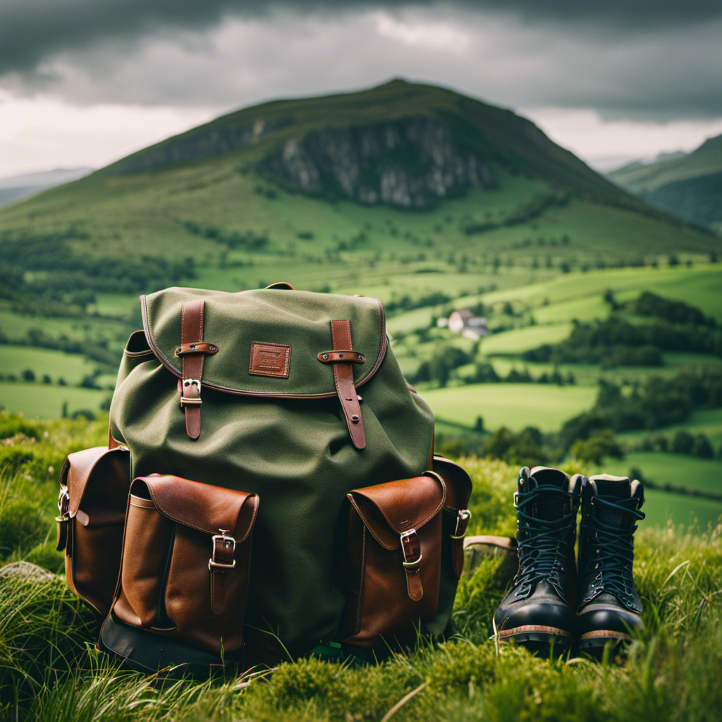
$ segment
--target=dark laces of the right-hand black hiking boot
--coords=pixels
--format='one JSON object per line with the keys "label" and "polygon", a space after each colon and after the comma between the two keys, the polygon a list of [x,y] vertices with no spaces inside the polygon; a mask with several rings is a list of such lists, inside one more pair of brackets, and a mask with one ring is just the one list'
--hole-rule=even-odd
{"label": "dark laces of the right-hand black hiking boot", "polygon": [[[635,521],[641,521],[645,514],[635,508],[636,499],[607,501],[603,497],[594,497],[593,503],[614,509],[622,507]],[[587,569],[597,570],[592,588],[585,595],[585,599],[601,591],[614,594],[619,599],[630,601],[634,589],[632,578],[632,564],[634,563],[634,533],[637,531],[636,523],[626,529],[609,526],[596,514],[591,513],[586,523],[588,543],[592,545],[593,552]]]}

